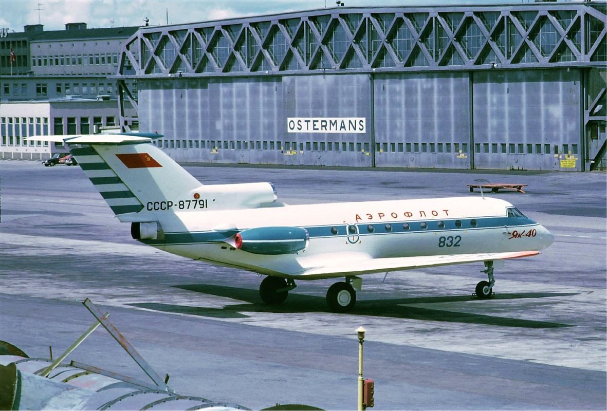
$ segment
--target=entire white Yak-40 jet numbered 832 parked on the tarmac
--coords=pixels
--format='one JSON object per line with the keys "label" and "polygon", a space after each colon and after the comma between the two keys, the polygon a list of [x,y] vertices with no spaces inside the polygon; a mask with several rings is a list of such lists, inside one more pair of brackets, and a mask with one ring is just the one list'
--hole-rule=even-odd
{"label": "entire white Yak-40 jet numbered 832 parked on the tarmac", "polygon": [[264,274],[267,304],[280,304],[296,280],[345,277],[327,291],[349,311],[361,274],[483,262],[493,295],[494,262],[539,254],[549,231],[500,199],[440,199],[289,206],[271,183],[203,185],[151,144],[151,133],[55,135],[135,240],[194,260]]}

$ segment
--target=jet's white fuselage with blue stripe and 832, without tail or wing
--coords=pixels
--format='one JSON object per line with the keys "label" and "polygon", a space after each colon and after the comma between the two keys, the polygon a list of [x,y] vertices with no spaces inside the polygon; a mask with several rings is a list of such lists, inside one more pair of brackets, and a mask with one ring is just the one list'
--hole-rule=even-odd
{"label": "jet's white fuselage with blue stripe and 832, without tail or wing", "polygon": [[[365,253],[380,259],[540,251],[552,242],[548,230],[520,213],[509,213],[512,208],[504,200],[481,197],[208,208],[177,211],[170,219],[165,215],[163,239],[142,241],[192,259],[273,276],[314,279],[300,273],[328,253]],[[305,228],[309,245],[298,253],[280,255],[251,254],[233,246],[231,239],[238,231],[268,226]]]}

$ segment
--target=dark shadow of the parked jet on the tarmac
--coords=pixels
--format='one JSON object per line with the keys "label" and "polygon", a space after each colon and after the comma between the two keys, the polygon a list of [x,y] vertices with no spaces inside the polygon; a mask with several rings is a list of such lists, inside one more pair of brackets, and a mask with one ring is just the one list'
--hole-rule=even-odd
{"label": "dark shadow of the parked jet on the tarmac", "polygon": [[[249,318],[242,312],[256,313],[310,313],[331,312],[324,297],[307,296],[290,293],[286,302],[281,305],[267,305],[259,297],[257,290],[249,288],[225,287],[223,285],[191,284],[175,285],[175,288],[194,291],[196,293],[211,294],[214,296],[229,297],[244,301],[243,304],[226,305],[223,308],[191,307],[188,305],[173,305],[160,303],[137,303],[130,304],[134,307],[147,308],[149,310],[163,311],[166,313],[192,314],[209,318]],[[543,297],[574,296],[576,293],[512,293],[497,294],[496,300],[527,299]],[[356,306],[349,314],[387,317],[408,318],[421,321],[461,322],[466,324],[498,325],[501,327],[522,328],[560,328],[574,327],[570,324],[558,322],[534,321],[526,319],[491,316],[485,314],[461,313],[458,311],[438,310],[433,308],[412,307],[409,304],[433,304],[444,302],[480,302],[472,296],[440,296],[440,297],[416,297],[397,298],[381,300],[357,301]]]}

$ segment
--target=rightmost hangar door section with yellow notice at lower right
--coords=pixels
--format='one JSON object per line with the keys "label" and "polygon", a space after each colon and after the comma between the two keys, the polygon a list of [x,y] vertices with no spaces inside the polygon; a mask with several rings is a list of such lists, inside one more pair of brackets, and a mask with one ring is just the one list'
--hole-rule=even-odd
{"label": "rightmost hangar door section with yellow notice at lower right", "polygon": [[473,73],[475,168],[580,171],[580,71]]}

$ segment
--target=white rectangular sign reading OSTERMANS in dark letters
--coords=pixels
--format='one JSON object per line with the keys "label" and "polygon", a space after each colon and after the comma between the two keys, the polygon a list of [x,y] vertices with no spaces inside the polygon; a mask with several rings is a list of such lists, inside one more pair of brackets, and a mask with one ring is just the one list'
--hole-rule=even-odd
{"label": "white rectangular sign reading OSTERMANS in dark letters", "polygon": [[290,133],[366,133],[364,117],[288,117]]}

